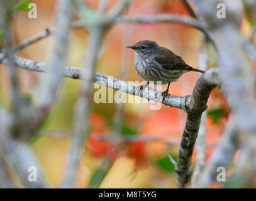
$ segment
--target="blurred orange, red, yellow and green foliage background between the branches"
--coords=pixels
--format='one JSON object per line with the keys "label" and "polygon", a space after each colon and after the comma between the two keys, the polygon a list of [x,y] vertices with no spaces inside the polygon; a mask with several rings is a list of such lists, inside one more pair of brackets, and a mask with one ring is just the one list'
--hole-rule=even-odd
{"label": "blurred orange, red, yellow and green foliage background between the branches", "polygon": [[[109,0],[109,8],[117,0]],[[31,1],[37,5],[37,19],[30,19],[27,11],[19,11],[14,15],[12,30],[16,36],[16,44],[30,38],[46,28],[54,25],[55,1]],[[98,1],[86,1],[91,8],[97,8]],[[135,0],[126,9],[125,14],[173,13],[189,15],[182,1],[178,0]],[[243,35],[250,34],[252,24],[242,19]],[[69,48],[68,65],[82,67],[86,52],[87,30],[79,28],[72,31]],[[201,52],[201,32],[179,23],[152,24],[114,24],[104,38],[103,47],[96,71],[106,73],[126,81],[142,81],[133,67],[134,53],[125,48],[140,40],[154,40],[181,56],[186,63],[198,68],[198,58]],[[32,60],[49,62],[52,48],[52,36],[26,47],[16,55]],[[209,67],[217,67],[213,48],[208,45]],[[19,84],[24,94],[35,97],[42,73],[18,69]],[[10,106],[10,80],[8,68],[0,67],[0,97],[6,107]],[[187,95],[192,89],[198,73],[184,74],[177,82],[170,84],[169,94]],[[52,112],[38,135],[31,139],[31,145],[42,164],[43,170],[52,185],[58,187],[65,173],[65,160],[69,151],[69,132],[72,126],[74,104],[79,95],[80,80],[64,79],[64,85],[58,90],[59,98],[53,104]],[[150,85],[150,87],[154,87]],[[162,90],[167,85],[162,86]],[[94,90],[95,92],[95,90]],[[115,114],[118,108],[115,104],[96,104],[92,102],[91,136],[84,151],[79,168],[77,187],[86,188],[97,171],[104,157],[108,157],[109,135],[113,133]],[[176,160],[179,142],[186,122],[186,112],[162,105],[160,110],[150,110],[150,104],[133,103],[123,106],[123,123],[121,134],[125,139],[118,146],[116,156],[111,156],[113,165],[100,188],[175,188],[177,187],[174,165],[168,155]],[[207,119],[207,160],[213,149],[218,145],[226,121],[230,117],[226,100],[220,89],[214,89],[208,101]],[[131,137],[131,138],[130,138]],[[196,151],[192,156],[192,163]],[[236,156],[234,160],[236,160]],[[232,171],[228,170],[228,174]],[[228,185],[228,184],[227,184]],[[216,187],[221,187],[216,184]]]}

